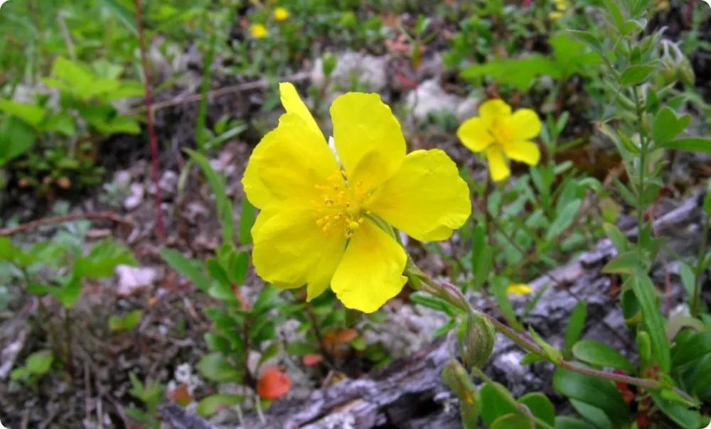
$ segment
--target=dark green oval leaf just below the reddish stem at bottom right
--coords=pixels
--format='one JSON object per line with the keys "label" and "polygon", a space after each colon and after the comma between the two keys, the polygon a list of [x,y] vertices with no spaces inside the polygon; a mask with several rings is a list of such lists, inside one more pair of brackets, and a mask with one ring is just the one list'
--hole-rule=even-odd
{"label": "dark green oval leaf just below the reddish stem at bottom right", "polygon": [[558,368],[553,386],[568,398],[600,408],[614,422],[626,421],[629,417],[629,408],[610,381]]}

